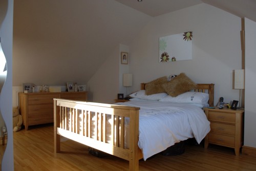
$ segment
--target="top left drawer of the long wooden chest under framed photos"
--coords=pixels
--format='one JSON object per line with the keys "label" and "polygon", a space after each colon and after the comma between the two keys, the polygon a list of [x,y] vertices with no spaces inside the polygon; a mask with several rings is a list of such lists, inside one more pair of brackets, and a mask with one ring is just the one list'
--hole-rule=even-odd
{"label": "top left drawer of the long wooden chest under framed photos", "polygon": [[59,98],[58,94],[36,94],[36,95],[29,95],[28,96],[28,104],[46,104],[46,103],[52,103],[53,99]]}

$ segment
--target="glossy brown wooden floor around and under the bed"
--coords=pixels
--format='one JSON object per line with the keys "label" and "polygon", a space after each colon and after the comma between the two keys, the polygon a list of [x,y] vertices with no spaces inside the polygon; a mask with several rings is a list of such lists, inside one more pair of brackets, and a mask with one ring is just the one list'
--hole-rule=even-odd
{"label": "glossy brown wooden floor around and under the bed", "polygon": [[[13,133],[14,170],[128,170],[129,162],[108,155],[92,156],[88,147],[63,139],[61,153],[54,155],[53,124],[30,126]],[[186,144],[178,156],[155,155],[139,161],[140,170],[256,170],[256,158],[234,155],[234,150],[218,145]]]}

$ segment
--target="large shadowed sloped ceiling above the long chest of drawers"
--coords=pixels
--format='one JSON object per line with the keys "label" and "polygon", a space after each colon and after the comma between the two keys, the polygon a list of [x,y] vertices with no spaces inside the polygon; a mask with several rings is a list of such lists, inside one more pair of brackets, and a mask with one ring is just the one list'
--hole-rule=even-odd
{"label": "large shadowed sloped ceiling above the long chest of drawers", "polygon": [[13,85],[20,86],[86,84],[152,17],[114,0],[14,0],[13,18]]}

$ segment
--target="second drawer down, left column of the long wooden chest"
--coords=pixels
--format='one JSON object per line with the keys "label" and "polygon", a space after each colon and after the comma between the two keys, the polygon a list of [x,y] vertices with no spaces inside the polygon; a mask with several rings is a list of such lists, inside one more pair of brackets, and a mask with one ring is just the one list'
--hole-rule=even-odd
{"label": "second drawer down, left column of the long wooden chest", "polygon": [[53,113],[53,103],[52,104],[42,104],[42,105],[29,105],[28,115],[36,113]]}

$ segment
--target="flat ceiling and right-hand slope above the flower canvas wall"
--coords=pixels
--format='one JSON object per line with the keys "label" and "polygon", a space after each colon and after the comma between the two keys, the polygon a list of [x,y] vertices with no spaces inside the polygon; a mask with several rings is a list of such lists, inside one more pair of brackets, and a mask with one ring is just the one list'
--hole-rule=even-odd
{"label": "flat ceiling and right-hand slope above the flower canvas wall", "polygon": [[173,12],[182,8],[206,3],[241,18],[256,21],[256,0],[115,0],[152,17]]}

